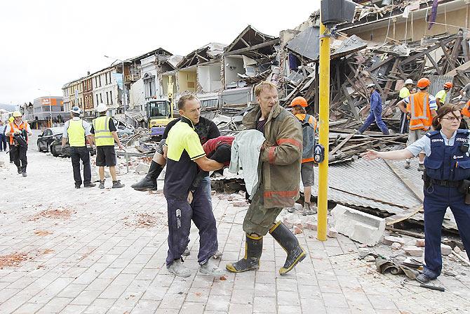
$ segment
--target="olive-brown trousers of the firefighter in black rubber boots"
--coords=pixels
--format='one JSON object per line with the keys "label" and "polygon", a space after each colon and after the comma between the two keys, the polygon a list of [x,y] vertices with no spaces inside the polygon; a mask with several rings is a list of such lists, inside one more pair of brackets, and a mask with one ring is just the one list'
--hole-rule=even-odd
{"label": "olive-brown trousers of the firefighter in black rubber boots", "polygon": [[248,235],[253,233],[267,235],[269,229],[276,223],[277,216],[281,214],[282,207],[264,207],[263,193],[264,187],[260,182],[243,220],[243,231]]}

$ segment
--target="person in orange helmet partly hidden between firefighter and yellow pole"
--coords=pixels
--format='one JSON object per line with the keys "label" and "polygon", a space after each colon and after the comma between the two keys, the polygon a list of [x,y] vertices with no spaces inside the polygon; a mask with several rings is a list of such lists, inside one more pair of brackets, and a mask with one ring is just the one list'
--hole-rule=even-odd
{"label": "person in orange helmet partly hidden between firefighter and yellow pole", "polygon": [[[307,115],[305,110],[309,104],[307,100],[301,96],[292,100],[289,107],[292,113],[299,119],[302,125],[302,164],[300,165],[300,177],[302,185],[304,185],[304,208],[302,215],[316,214],[316,207],[310,204],[311,187],[314,185],[314,146],[315,146],[315,130],[316,119],[312,115]],[[293,213],[295,207],[289,207],[288,211]]]}

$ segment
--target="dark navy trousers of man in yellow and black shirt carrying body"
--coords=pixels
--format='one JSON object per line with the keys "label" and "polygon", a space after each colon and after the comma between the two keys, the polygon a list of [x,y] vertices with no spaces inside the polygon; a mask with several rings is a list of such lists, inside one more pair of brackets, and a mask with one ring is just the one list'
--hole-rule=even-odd
{"label": "dark navy trousers of man in yellow and black shirt carrying body", "polygon": [[[191,221],[199,229],[198,262],[206,263],[217,251],[217,225],[212,211],[206,184],[199,185],[194,191],[192,204],[187,199],[166,197],[168,204],[168,256],[166,266],[170,266],[181,255],[189,243]],[[207,185],[206,185],[207,187]]]}

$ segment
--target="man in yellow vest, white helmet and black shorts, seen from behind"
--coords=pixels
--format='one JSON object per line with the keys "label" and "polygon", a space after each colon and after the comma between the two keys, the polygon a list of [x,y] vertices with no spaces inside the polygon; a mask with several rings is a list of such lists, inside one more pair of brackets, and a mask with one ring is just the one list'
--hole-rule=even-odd
{"label": "man in yellow vest, white helmet and black shorts, seen from behind", "polygon": [[116,150],[114,150],[114,141],[123,150],[121,141],[116,133],[116,126],[113,119],[107,117],[107,105],[100,103],[96,107],[98,111],[98,118],[93,119],[91,126],[91,133],[93,134],[93,141],[96,145],[96,165],[100,167],[100,186],[98,188],[105,188],[105,166],[109,166],[109,174],[113,179],[112,188],[123,188],[123,184],[116,178]]}

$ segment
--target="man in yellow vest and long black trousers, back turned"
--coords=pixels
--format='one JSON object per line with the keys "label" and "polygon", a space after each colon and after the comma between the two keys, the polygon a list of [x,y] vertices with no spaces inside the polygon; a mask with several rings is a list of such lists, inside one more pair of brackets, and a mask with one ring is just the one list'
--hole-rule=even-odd
{"label": "man in yellow vest and long black trousers, back turned", "polygon": [[79,189],[81,185],[80,160],[83,163],[83,187],[93,188],[95,183],[91,183],[90,152],[86,147],[85,138],[93,147],[93,138],[91,136],[91,126],[88,122],[80,119],[83,111],[79,107],[72,107],[70,110],[72,119],[64,124],[64,133],[62,133],[62,150],[69,141],[70,159],[74,169],[75,188]]}

